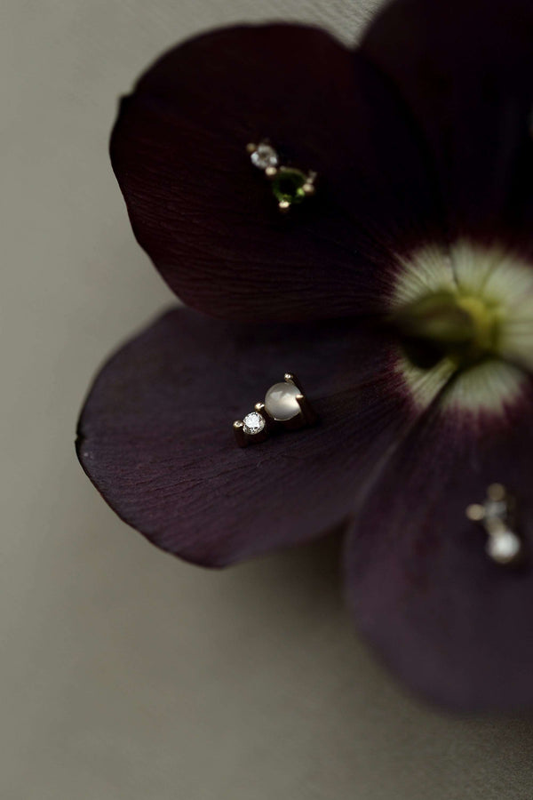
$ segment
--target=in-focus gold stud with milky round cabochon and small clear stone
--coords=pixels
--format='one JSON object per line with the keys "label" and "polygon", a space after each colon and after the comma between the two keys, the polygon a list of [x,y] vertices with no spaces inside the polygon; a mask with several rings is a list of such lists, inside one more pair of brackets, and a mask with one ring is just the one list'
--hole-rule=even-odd
{"label": "in-focus gold stud with milky round cabochon and small clear stone", "polygon": [[271,434],[306,428],[317,419],[299,381],[285,372],[283,380],[268,389],[264,403],[256,403],[253,412],[234,422],[235,439],[240,447],[259,444]]}

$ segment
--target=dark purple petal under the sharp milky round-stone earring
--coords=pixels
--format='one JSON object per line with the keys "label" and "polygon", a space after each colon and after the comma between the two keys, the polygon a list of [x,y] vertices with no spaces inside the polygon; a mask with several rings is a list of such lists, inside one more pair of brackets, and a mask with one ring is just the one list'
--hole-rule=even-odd
{"label": "dark purple petal under the sharp milky round-stone earring", "polygon": [[[99,373],[78,456],[126,522],[191,561],[310,540],[343,521],[419,413],[396,359],[350,323],[235,327],[175,310]],[[292,370],[320,424],[238,448],[234,420]]]}

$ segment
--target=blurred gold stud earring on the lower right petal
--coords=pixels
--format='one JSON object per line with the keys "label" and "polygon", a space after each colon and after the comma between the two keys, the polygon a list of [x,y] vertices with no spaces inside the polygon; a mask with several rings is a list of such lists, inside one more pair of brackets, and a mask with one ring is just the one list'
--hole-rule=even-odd
{"label": "blurred gold stud earring on the lower right petal", "polygon": [[479,522],[489,535],[486,550],[497,564],[516,564],[523,555],[521,539],[514,527],[515,503],[502,484],[490,484],[484,503],[466,508],[466,516]]}

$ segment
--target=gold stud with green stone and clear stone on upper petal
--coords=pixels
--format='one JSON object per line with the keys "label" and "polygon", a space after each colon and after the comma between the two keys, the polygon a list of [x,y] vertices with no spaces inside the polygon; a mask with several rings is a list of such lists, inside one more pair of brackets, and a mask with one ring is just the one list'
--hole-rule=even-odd
{"label": "gold stud with green stone and clear stone on upper petal", "polygon": [[267,140],[259,145],[252,142],[246,146],[251,163],[265,172],[272,181],[272,191],[281,212],[288,212],[292,205],[302,203],[306,197],[314,195],[316,172],[302,172],[289,166],[280,166],[277,152]]}

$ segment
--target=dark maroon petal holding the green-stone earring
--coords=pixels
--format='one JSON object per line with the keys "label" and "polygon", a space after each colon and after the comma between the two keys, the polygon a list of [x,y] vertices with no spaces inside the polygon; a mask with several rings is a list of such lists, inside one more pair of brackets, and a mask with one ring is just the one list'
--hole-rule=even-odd
{"label": "dark maroon petal holding the green-stone earring", "polygon": [[[246,144],[318,172],[280,214]],[[378,70],[313,28],[227,28],[175,48],[111,141],[139,243],[187,304],[288,320],[383,308],[394,254],[435,233],[431,166]]]}

